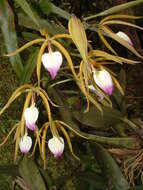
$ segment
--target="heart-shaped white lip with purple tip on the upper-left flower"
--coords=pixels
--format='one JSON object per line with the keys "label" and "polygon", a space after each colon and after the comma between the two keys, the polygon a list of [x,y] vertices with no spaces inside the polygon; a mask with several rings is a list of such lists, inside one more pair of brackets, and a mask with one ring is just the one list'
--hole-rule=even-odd
{"label": "heart-shaped white lip with purple tip on the upper-left flower", "polygon": [[42,63],[45,69],[50,73],[52,79],[56,77],[62,62],[63,57],[59,51],[44,53],[42,55]]}

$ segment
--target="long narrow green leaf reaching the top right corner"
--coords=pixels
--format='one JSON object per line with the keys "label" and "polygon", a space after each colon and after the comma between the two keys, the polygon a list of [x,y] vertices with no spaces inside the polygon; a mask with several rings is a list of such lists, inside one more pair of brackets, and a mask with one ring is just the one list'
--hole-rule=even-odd
{"label": "long narrow green leaf reaching the top right corner", "polygon": [[117,13],[117,12],[121,12],[125,9],[129,9],[131,7],[134,7],[134,6],[137,6],[139,4],[143,3],[143,0],[136,0],[136,1],[131,1],[131,2],[128,2],[128,3],[124,3],[124,4],[121,4],[121,5],[117,5],[117,6],[114,6],[110,9],[107,9],[101,13],[98,13],[96,15],[92,15],[92,16],[89,16],[87,18],[85,18],[84,20],[90,20],[90,19],[93,19],[93,18],[96,18],[96,17],[99,17],[99,16],[107,16],[109,14],[114,14],[114,13]]}

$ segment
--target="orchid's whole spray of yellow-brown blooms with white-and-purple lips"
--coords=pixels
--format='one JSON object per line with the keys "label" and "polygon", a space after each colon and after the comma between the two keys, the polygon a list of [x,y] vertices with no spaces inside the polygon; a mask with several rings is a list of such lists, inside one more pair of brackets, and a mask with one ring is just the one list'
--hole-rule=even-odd
{"label": "orchid's whole spray of yellow-brown blooms with white-and-purple lips", "polygon": [[[0,110],[0,115],[9,108],[11,103],[15,101],[22,94],[26,94],[25,103],[23,106],[23,112],[21,120],[17,123],[9,132],[8,136],[0,144],[2,146],[8,139],[8,137],[15,131],[14,142],[15,142],[15,160],[17,159],[18,150],[22,153],[28,153],[31,148],[31,155],[34,154],[36,147],[39,147],[41,157],[44,161],[44,168],[46,168],[46,144],[48,144],[49,150],[53,153],[54,157],[59,157],[63,154],[65,142],[62,136],[65,137],[69,145],[70,151],[73,156],[79,159],[72,150],[72,144],[70,136],[67,132],[71,130],[76,135],[89,139],[82,135],[79,131],[76,131],[65,122],[61,120],[54,120],[52,117],[51,106],[58,107],[49,97],[48,92],[45,91],[41,86],[41,69],[42,64],[46,71],[50,74],[51,80],[60,72],[63,60],[68,64],[72,77],[83,93],[87,107],[85,112],[90,109],[90,103],[96,106],[96,108],[102,112],[102,106],[112,107],[110,96],[114,92],[114,88],[118,88],[121,94],[124,94],[122,87],[116,79],[116,74],[113,73],[106,65],[109,63],[128,63],[136,64],[138,61],[129,60],[117,55],[115,50],[105,39],[102,31],[106,33],[110,38],[116,40],[127,49],[129,49],[136,56],[142,58],[142,56],[135,50],[131,39],[123,32],[119,31],[114,33],[110,25],[122,24],[126,26],[136,27],[143,30],[141,27],[133,25],[129,22],[123,21],[124,19],[137,19],[138,17],[127,16],[127,15],[113,15],[104,18],[99,23],[98,34],[106,47],[112,52],[112,54],[106,53],[101,50],[90,50],[88,51],[88,40],[86,33],[81,21],[72,16],[69,20],[69,34],[58,34],[55,36],[49,36],[48,32],[41,30],[40,33],[43,37],[28,42],[15,52],[9,53],[5,56],[11,57],[25,50],[26,48],[42,43],[38,58],[37,58],[37,82],[35,84],[24,84],[13,92],[7,104]],[[70,53],[65,47],[58,41],[58,39],[72,40],[80,53],[80,60],[77,69],[71,58]],[[46,50],[48,49],[48,52]],[[58,50],[57,50],[58,49]],[[42,126],[38,126],[38,117],[40,116],[40,110],[36,104],[36,98],[42,99],[43,105],[47,112],[47,122]],[[47,132],[50,129],[52,138],[47,139]],[[35,136],[35,142],[32,143],[32,138],[28,135],[29,130]],[[30,133],[31,134],[31,133]],[[62,134],[62,136],[60,136]],[[89,139],[90,140],[90,139]],[[33,144],[33,147],[32,147]]]}

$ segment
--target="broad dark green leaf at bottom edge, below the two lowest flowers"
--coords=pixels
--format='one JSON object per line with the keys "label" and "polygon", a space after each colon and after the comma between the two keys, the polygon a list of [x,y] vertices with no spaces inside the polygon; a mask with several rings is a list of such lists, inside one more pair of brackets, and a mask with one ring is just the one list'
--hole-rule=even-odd
{"label": "broad dark green leaf at bottom edge, below the two lowest flowers", "polygon": [[46,190],[39,169],[31,158],[24,156],[19,165],[19,173],[30,190]]}

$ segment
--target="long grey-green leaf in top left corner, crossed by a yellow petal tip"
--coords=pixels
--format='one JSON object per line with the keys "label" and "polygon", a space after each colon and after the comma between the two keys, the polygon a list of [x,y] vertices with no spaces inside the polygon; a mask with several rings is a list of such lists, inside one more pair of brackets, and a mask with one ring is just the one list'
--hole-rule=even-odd
{"label": "long grey-green leaf in top left corner, crossed by a yellow petal tip", "polygon": [[[0,27],[4,37],[7,52],[13,52],[18,48],[17,35],[15,32],[14,14],[5,0],[0,1]],[[23,65],[19,55],[10,57],[12,68],[17,77],[21,78]]]}

